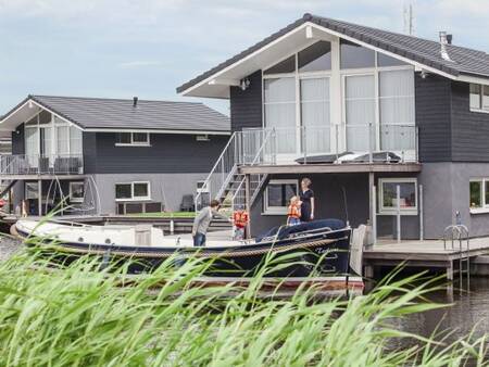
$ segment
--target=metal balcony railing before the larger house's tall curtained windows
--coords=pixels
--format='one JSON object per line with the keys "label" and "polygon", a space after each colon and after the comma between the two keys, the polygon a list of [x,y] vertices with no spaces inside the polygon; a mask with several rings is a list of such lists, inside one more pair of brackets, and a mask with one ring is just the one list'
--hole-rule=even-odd
{"label": "metal balcony railing before the larger house's tall curtained windows", "polygon": [[[241,164],[280,164],[314,155],[363,155],[356,162],[417,162],[417,126],[401,124],[338,124],[297,128],[256,128],[242,131]],[[391,154],[389,154],[391,153]]]}

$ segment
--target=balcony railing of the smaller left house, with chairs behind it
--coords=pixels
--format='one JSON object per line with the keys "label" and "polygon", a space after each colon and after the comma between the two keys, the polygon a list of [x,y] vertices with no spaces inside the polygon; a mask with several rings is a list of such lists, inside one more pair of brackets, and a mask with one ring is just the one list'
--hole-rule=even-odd
{"label": "balcony railing of the smaller left house, with chairs behind it", "polygon": [[0,155],[0,175],[82,175],[82,154]]}

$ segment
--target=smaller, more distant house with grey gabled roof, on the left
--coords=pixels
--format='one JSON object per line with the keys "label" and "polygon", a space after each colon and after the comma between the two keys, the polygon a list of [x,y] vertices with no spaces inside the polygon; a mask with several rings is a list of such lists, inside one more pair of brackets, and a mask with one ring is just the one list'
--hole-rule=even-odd
{"label": "smaller, more distant house with grey gabled roof, on the left", "polygon": [[[28,96],[0,122],[2,197],[14,212],[125,214],[179,210],[229,139],[229,119],[202,103]],[[190,201],[191,203],[191,201]]]}

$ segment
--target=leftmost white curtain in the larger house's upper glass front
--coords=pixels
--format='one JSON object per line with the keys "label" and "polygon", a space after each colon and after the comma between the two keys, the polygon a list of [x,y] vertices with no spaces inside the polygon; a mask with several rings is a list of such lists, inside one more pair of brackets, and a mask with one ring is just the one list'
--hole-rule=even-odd
{"label": "leftmost white curtain in the larger house's upper glass front", "polygon": [[276,130],[277,153],[296,153],[296,79],[264,80],[265,126]]}

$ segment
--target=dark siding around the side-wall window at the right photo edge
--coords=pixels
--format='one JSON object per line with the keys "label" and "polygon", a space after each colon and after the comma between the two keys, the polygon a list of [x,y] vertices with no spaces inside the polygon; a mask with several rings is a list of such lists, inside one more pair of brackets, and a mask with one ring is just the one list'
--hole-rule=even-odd
{"label": "dark siding around the side-wall window at the right photo edge", "polygon": [[489,162],[489,114],[471,112],[468,86],[452,81],[452,161]]}

